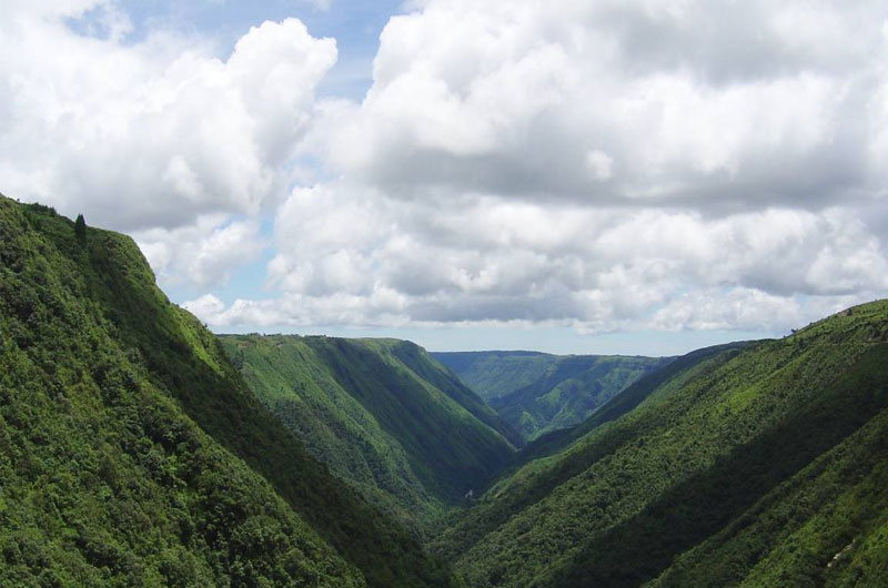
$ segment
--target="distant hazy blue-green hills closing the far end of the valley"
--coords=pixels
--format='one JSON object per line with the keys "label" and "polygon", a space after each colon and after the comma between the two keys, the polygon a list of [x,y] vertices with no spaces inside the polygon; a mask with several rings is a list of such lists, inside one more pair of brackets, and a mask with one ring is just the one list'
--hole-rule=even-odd
{"label": "distant hazy blue-green hills closing the far end of the valley", "polygon": [[453,369],[527,440],[584,420],[672,358],[454,352],[433,357]]}

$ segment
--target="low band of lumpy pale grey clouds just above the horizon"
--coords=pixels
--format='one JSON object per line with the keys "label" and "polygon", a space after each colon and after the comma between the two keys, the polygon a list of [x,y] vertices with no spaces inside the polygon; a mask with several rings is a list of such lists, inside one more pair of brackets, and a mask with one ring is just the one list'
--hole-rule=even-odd
{"label": "low band of lumpy pale grey clouds just above the horizon", "polygon": [[404,202],[334,183],[291,194],[275,246],[280,298],[216,305],[208,321],[773,332],[888,290],[881,243],[841,207],[710,219],[500,196]]}

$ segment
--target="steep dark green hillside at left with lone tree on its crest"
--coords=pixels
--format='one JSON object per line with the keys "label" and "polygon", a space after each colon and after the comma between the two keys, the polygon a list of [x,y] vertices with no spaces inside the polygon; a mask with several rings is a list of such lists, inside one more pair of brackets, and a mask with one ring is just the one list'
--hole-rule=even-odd
{"label": "steep dark green hillside at left with lone tree on its crest", "polygon": [[120,234],[0,197],[0,585],[438,586]]}

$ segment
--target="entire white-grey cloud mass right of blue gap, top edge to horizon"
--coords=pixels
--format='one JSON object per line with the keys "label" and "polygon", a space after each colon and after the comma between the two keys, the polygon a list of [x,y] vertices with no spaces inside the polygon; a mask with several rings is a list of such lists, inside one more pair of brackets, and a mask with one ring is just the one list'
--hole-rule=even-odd
{"label": "entire white-grey cloud mass right of blue gap, top edge to horizon", "polygon": [[773,332],[888,288],[877,2],[410,8],[279,211],[296,323]]}

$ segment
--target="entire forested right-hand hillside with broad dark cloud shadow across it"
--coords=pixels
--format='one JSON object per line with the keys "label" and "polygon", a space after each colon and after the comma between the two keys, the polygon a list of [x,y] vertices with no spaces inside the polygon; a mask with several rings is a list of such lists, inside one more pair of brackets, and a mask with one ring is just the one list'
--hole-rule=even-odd
{"label": "entire forested right-hand hillside with broad dark cloud shadow across it", "polygon": [[878,302],[692,362],[436,548],[471,586],[879,586],[886,407]]}

